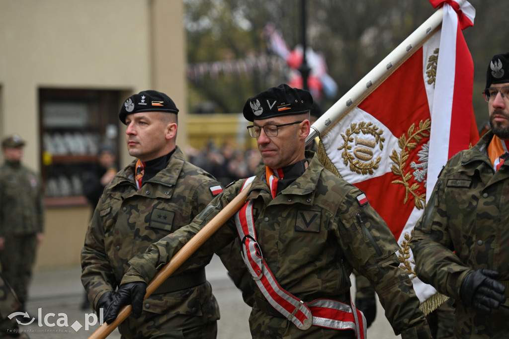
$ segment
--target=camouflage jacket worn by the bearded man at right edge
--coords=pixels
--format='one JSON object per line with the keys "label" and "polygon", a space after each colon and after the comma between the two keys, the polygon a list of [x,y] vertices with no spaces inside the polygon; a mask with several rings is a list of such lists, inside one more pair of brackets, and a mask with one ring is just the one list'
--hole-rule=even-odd
{"label": "camouflage jacket worn by the bearded man at right edge", "polygon": [[489,268],[509,280],[509,166],[493,170],[492,137],[487,132],[447,161],[410,243],[419,278],[456,299],[455,332],[462,338],[509,336],[509,300],[491,315],[460,300],[463,278],[473,270]]}

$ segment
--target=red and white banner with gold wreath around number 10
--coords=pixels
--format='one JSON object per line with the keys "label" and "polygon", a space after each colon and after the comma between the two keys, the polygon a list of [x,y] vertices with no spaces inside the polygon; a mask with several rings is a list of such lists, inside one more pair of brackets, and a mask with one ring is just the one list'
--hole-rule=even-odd
{"label": "red and white banner with gold wreath around number 10", "polygon": [[473,25],[475,10],[466,1],[430,3],[443,6],[441,29],[320,135],[337,172],[366,193],[398,239],[401,265],[425,313],[444,299],[431,305],[431,297],[439,295],[415,276],[408,240],[442,166],[479,139],[472,109],[473,63],[461,32]]}

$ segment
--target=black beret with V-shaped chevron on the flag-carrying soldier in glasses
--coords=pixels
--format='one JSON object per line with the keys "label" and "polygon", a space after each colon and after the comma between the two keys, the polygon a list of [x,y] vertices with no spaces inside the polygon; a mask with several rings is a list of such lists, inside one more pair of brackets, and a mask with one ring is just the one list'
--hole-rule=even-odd
{"label": "black beret with V-shaped chevron on the flag-carrying soldier in glasses", "polygon": [[247,99],[242,110],[248,121],[302,114],[311,109],[313,97],[308,91],[291,88],[286,83]]}

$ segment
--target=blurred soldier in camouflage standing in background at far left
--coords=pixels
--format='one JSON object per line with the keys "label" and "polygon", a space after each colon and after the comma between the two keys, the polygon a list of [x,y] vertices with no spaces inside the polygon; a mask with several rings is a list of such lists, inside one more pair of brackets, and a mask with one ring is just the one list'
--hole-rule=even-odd
{"label": "blurred soldier in camouflage standing in background at far left", "polygon": [[44,237],[42,187],[34,171],[21,164],[24,145],[19,135],[5,138],[0,167],[0,263],[23,312],[37,245]]}

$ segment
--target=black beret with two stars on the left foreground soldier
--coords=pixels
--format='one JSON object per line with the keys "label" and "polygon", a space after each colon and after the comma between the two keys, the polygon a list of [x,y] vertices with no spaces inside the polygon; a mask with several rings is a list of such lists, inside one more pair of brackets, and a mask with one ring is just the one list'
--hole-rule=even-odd
{"label": "black beret with two stars on the left foreground soldier", "polygon": [[126,116],[139,112],[171,112],[178,114],[179,110],[171,98],[162,92],[153,90],[133,94],[124,102],[120,109],[119,119],[125,125]]}

